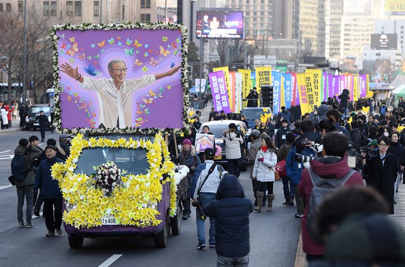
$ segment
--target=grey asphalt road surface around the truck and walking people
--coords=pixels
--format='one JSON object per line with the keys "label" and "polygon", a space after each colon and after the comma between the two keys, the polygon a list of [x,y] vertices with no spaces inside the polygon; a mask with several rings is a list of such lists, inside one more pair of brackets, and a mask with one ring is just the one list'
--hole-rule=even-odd
{"label": "grey asphalt road surface around the truck and walking people", "polygon": [[[17,227],[17,196],[9,186],[9,155],[20,138],[32,133],[0,136],[0,265],[1,266],[215,266],[215,249],[195,250],[197,245],[195,210],[182,221],[179,236],[170,236],[169,247],[154,247],[153,238],[85,239],[82,249],[70,249],[67,235],[46,238],[45,220],[35,217],[33,229]],[[47,138],[57,138],[47,131]],[[45,144],[41,145],[45,148]],[[10,150],[9,152],[5,152]],[[3,153],[2,153],[3,152]],[[253,199],[249,173],[242,172],[240,182],[246,195]],[[300,220],[294,218],[295,206],[282,205],[282,183],[275,182],[273,211],[250,215],[250,265],[294,266],[300,231]],[[25,214],[25,211],[24,211]],[[209,223],[206,223],[208,239]],[[119,256],[121,255],[121,256]],[[116,260],[114,260],[116,259]],[[104,264],[103,264],[104,263]],[[110,264],[110,265],[109,265]]]}

